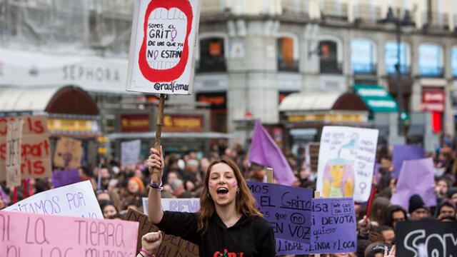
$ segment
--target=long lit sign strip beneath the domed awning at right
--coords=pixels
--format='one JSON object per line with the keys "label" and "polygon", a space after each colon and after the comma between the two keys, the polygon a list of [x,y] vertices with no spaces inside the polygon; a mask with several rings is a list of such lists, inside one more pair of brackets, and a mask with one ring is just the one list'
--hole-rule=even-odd
{"label": "long lit sign strip beneath the domed awning at right", "polygon": [[366,114],[301,114],[289,115],[287,121],[290,122],[366,122]]}

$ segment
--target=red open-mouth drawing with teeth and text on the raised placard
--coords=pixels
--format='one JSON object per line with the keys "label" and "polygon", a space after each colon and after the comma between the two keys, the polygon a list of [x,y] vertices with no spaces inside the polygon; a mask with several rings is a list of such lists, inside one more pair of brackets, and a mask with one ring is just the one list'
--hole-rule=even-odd
{"label": "red open-mouth drawing with teeth and text on the raised placard", "polygon": [[[170,82],[184,73],[189,59],[188,39],[193,19],[194,14],[189,0],[152,0],[149,3],[144,17],[144,38],[139,51],[139,68],[144,78],[154,82]],[[185,35],[181,31],[169,28],[178,28],[177,25],[184,23]],[[155,41],[155,44],[161,41],[166,44],[149,48],[149,41]],[[180,42],[181,46],[177,46]],[[167,43],[174,45],[167,46]]]}

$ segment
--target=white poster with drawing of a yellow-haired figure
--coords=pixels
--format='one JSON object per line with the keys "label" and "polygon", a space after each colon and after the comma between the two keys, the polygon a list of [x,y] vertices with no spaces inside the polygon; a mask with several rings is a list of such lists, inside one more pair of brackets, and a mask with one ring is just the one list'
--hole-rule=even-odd
{"label": "white poster with drawing of a yellow-haired figure", "polygon": [[368,200],[377,143],[377,129],[323,127],[316,184],[323,198]]}

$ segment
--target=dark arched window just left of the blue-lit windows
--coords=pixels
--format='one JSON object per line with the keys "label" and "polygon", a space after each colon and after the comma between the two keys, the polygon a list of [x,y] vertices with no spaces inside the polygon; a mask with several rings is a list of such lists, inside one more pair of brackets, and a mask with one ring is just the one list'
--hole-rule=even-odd
{"label": "dark arched window just left of the blue-lit windows", "polygon": [[342,67],[338,63],[338,52],[335,41],[324,40],[319,42],[321,57],[321,73],[323,74],[341,74]]}

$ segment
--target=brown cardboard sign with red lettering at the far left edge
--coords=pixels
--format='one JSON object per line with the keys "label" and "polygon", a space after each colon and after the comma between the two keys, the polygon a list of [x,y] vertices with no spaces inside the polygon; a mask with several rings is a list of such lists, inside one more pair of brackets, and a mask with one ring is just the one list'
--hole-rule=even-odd
{"label": "brown cardboard sign with red lettering at the far left edge", "polygon": [[[0,181],[6,180],[6,134],[8,121],[17,117],[0,118]],[[51,176],[51,147],[46,116],[23,116],[21,138],[21,176],[44,178]]]}

